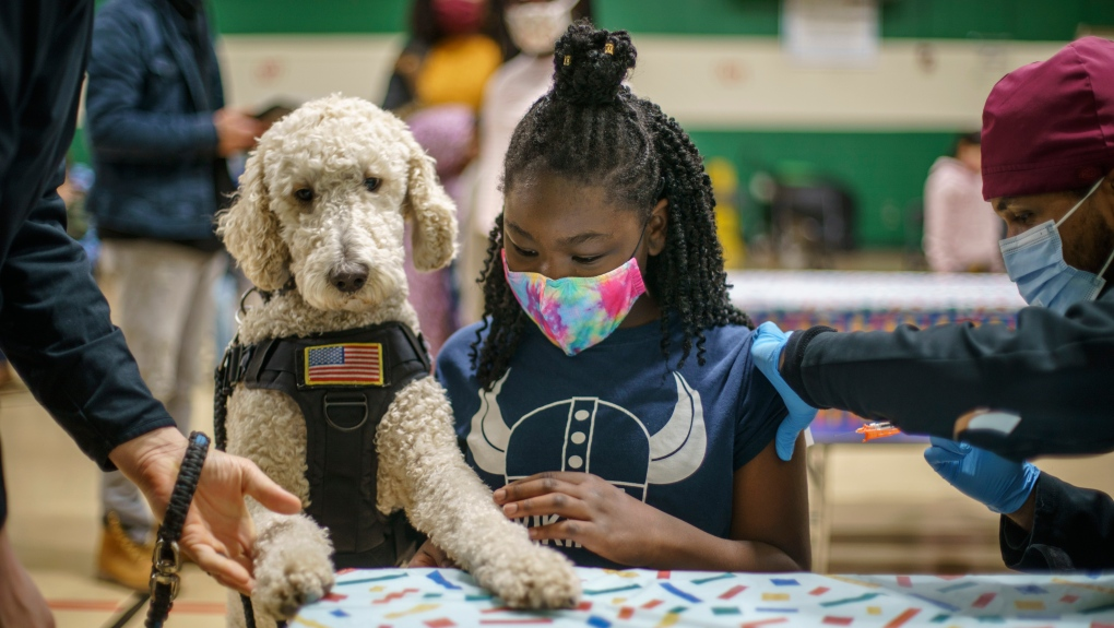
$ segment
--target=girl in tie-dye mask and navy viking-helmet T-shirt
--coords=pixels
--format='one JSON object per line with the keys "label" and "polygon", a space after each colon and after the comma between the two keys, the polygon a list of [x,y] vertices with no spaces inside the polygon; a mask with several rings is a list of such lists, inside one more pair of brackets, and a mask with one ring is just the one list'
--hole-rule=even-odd
{"label": "girl in tie-dye mask and navy viking-helmet T-shirt", "polygon": [[634,61],[625,31],[557,42],[507,153],[486,320],[438,376],[496,503],[576,563],[807,570],[803,455],[774,453],[785,408],[727,300],[710,180],[623,86]]}

